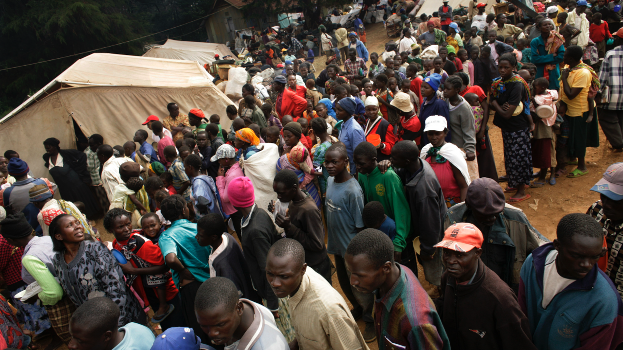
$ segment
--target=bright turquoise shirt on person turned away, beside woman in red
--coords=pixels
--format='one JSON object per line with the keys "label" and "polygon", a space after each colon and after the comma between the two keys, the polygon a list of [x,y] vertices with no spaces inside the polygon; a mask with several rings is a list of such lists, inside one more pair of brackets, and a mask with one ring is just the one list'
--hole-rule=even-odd
{"label": "bright turquoise shirt on person turned away, beside woman in red", "polygon": [[[176,220],[164,231],[158,239],[158,245],[164,258],[169,253],[175,253],[184,267],[193,273],[194,278],[203,282],[210,278],[210,265],[207,260],[212,252],[212,247],[201,247],[197,244],[197,224],[181,219]],[[179,288],[179,273],[171,270],[173,281]]]}

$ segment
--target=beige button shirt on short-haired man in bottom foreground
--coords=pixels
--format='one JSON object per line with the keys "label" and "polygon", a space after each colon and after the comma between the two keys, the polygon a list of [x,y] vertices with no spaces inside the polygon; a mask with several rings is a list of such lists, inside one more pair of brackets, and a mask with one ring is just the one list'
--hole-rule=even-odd
{"label": "beige button shirt on short-haired man in bottom foreground", "polygon": [[312,268],[289,303],[301,350],[369,350],[344,298]]}

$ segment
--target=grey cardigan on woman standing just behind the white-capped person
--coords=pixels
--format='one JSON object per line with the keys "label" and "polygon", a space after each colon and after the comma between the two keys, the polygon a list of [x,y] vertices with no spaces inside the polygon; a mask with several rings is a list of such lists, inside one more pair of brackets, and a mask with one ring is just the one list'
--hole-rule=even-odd
{"label": "grey cardigan on woman standing just behind the white-capped person", "polygon": [[465,153],[476,153],[476,126],[473,122],[472,106],[465,101],[465,98],[459,96],[459,104],[450,106],[449,100],[448,110],[450,111],[450,135],[452,143],[458,148],[462,148]]}

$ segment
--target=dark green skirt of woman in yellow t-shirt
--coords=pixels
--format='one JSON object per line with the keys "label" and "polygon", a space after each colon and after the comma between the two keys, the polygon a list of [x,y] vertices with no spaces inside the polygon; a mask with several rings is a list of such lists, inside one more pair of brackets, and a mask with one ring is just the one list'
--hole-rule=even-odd
{"label": "dark green skirt of woman in yellow t-shirt", "polygon": [[583,158],[586,156],[587,147],[599,147],[599,123],[597,123],[597,110],[592,116],[590,123],[586,123],[588,112],[582,116],[565,116],[569,120],[569,147],[570,158]]}

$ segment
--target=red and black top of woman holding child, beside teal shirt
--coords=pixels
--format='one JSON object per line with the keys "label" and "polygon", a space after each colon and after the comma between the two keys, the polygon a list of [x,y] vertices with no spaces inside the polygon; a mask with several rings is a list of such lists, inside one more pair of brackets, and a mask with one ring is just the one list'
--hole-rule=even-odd
{"label": "red and black top of woman holding child, beside teal shirt", "polygon": [[[133,230],[130,234],[130,238],[125,241],[118,242],[117,239],[113,240],[113,248],[119,250],[123,253],[124,249],[127,249],[128,252],[131,252],[133,256],[138,257],[138,259],[143,260],[151,266],[164,265],[164,257],[158,245],[153,244],[150,239],[143,236],[143,230]],[[130,245],[128,245],[130,244]],[[125,255],[125,254],[124,254]],[[127,255],[126,255],[127,257]],[[136,259],[136,260],[138,260]],[[136,263],[135,258],[128,259],[132,263],[132,266],[135,268],[144,268],[148,267],[145,265],[138,265]],[[149,278],[148,275],[138,275],[132,283],[134,290],[136,293],[141,296],[141,299],[145,302],[145,305],[149,305],[149,301],[147,299],[147,293],[156,293],[156,286],[165,286],[166,287],[166,300],[169,301],[173,299],[178,294],[178,288],[176,288],[175,283],[173,282],[173,278],[171,278],[171,273],[166,272],[161,275],[155,275],[157,278]],[[144,286],[143,281],[147,281],[148,283],[158,283],[156,285]],[[148,290],[151,290],[149,292]]]}

